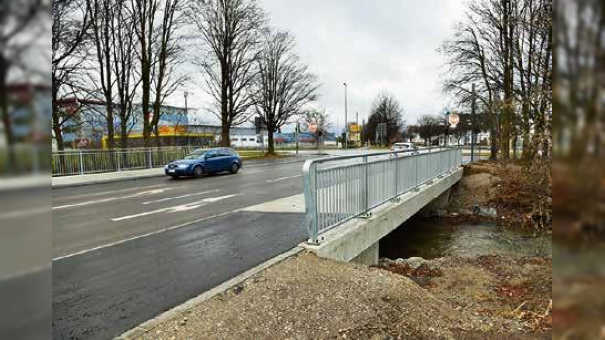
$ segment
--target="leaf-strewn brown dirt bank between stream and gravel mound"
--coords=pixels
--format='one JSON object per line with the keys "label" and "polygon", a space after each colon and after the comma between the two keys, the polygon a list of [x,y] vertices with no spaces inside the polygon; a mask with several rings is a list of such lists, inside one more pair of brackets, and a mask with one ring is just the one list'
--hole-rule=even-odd
{"label": "leaf-strewn brown dirt bank between stream and gravel mound", "polygon": [[413,270],[393,261],[381,268],[412,278],[457,312],[492,332],[551,338],[552,258],[443,257]]}

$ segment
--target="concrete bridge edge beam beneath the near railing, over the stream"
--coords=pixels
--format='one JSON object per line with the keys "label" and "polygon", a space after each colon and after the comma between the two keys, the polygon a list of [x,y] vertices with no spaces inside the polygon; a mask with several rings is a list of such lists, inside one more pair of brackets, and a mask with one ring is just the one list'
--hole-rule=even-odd
{"label": "concrete bridge edge beam beneath the near railing, over the stream", "polygon": [[[309,251],[326,258],[374,265],[378,263],[378,243],[420,209],[437,199],[462,178],[462,168],[421,185],[419,191],[399,196],[399,202],[387,202],[374,208],[367,219],[353,219],[320,237],[319,245],[302,244]],[[368,251],[368,252],[365,252]],[[361,255],[360,255],[361,254]],[[374,256],[376,254],[376,256]]]}

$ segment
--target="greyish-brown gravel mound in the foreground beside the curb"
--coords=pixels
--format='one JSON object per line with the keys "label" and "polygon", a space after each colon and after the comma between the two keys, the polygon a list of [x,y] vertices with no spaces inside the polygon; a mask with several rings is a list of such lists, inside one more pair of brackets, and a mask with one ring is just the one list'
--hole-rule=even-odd
{"label": "greyish-brown gravel mound in the foreground beside the curb", "polygon": [[302,253],[145,339],[453,339],[488,330],[403,275]]}

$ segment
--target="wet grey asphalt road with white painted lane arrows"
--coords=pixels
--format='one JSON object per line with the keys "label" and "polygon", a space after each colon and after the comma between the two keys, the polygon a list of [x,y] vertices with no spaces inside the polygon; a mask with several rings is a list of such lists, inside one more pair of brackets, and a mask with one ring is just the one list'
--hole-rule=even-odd
{"label": "wet grey asphalt road with white painted lane arrows", "polygon": [[54,189],[53,338],[119,335],[302,242],[302,213],[238,210],[301,193],[303,161]]}

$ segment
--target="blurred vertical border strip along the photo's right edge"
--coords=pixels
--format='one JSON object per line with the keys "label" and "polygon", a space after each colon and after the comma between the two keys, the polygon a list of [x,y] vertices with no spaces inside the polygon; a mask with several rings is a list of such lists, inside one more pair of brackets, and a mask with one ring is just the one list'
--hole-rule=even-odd
{"label": "blurred vertical border strip along the photo's right edge", "polygon": [[605,4],[561,0],[555,6],[554,339],[602,339]]}

